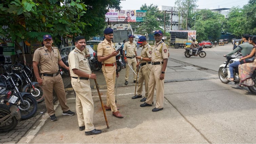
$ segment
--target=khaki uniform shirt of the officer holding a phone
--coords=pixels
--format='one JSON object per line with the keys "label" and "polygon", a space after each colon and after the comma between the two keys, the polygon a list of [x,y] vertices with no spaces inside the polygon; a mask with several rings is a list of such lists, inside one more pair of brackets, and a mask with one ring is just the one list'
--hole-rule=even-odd
{"label": "khaki uniform shirt of the officer holding a phone", "polygon": [[[112,54],[114,51],[116,51],[115,49],[115,45],[114,43],[111,41],[111,43],[109,43],[106,39],[104,39],[102,42],[100,42],[98,44],[97,47],[97,55],[98,56],[107,56]],[[102,61],[102,63],[115,63],[116,62],[116,57],[111,57],[105,61]]]}

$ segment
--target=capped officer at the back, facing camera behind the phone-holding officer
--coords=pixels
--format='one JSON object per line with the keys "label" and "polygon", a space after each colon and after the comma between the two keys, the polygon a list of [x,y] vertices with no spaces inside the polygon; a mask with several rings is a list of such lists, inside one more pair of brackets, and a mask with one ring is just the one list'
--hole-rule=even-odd
{"label": "capped officer at the back, facing camera behind the phone-holding officer", "polygon": [[[133,71],[136,71],[136,64],[137,64],[137,59],[135,58],[135,56],[137,56],[137,52],[136,52],[136,42],[133,41],[133,39],[135,38],[133,35],[129,35],[128,36],[129,41],[124,43],[123,46],[123,56],[124,56],[124,62],[129,64],[132,68]],[[125,55],[125,51],[126,51],[126,55]],[[128,84],[128,78],[129,78],[129,71],[130,71],[130,66],[126,66],[125,69],[125,85]],[[136,74],[133,73],[133,82],[136,82]]]}

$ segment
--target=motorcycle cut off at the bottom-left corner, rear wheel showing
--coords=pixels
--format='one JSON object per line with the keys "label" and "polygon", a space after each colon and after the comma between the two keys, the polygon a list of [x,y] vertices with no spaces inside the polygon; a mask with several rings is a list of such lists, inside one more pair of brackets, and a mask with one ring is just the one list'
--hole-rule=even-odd
{"label": "motorcycle cut off at the bottom-left corner, rear wheel showing", "polygon": [[0,98],[2,99],[0,101],[0,132],[14,129],[18,124],[18,120],[21,118],[20,110],[17,106],[8,106],[2,102],[4,101],[3,99],[8,99],[12,94],[6,88],[6,82],[0,79]]}

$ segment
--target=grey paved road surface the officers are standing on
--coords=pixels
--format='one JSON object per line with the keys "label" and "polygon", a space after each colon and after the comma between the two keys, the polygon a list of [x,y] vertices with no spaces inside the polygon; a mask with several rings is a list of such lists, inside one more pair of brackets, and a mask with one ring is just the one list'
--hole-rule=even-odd
{"label": "grey paved road surface the officers are standing on", "polygon": [[[218,79],[218,66],[225,61],[222,55],[232,50],[231,44],[203,50],[205,58],[185,58],[184,49],[170,48],[162,111],[152,112],[155,105],[141,108],[139,99],[131,99],[135,86],[123,84],[122,70],[117,105],[124,119],[117,119],[107,111],[110,129],[106,128],[98,94],[93,89],[94,124],[103,130],[102,134],[84,136],[78,130],[76,116],[62,116],[56,103],[58,121],[51,122],[45,113],[37,115],[40,117],[27,132],[19,133],[22,128],[17,127],[13,132],[1,133],[1,141],[5,136],[2,143],[256,143],[255,95],[246,87],[223,84]],[[101,71],[95,73],[105,103],[104,79]],[[94,85],[91,81],[91,87]],[[66,94],[68,105],[75,110],[73,91]],[[16,140],[7,140],[16,135],[19,136]]]}

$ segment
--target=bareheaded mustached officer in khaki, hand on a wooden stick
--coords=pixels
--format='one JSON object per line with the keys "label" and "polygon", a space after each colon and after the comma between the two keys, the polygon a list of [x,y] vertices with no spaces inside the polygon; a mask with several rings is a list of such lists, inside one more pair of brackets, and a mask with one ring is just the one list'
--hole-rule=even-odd
{"label": "bareheaded mustached officer in khaki, hand on a wooden stick", "polygon": [[101,133],[101,130],[95,129],[93,125],[94,104],[89,80],[97,77],[96,74],[92,74],[88,60],[84,56],[85,38],[77,36],[75,45],[75,49],[68,55],[68,65],[70,65],[70,76],[72,77],[71,85],[76,92],[79,130],[85,129],[85,135],[97,135]]}

